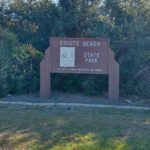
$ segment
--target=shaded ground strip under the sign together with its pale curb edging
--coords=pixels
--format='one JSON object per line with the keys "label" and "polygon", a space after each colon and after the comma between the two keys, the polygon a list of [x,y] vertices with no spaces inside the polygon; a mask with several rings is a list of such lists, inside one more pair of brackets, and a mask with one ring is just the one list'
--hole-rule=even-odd
{"label": "shaded ground strip under the sign together with its pale curb edging", "polygon": [[[69,105],[69,106],[86,106],[86,107],[120,107],[120,108],[128,108],[131,106],[133,107],[143,107],[143,108],[150,108],[150,102],[141,103],[142,100],[139,102],[131,100],[123,100],[120,101],[111,101],[106,98],[102,98],[99,96],[85,96],[83,94],[72,94],[72,93],[64,93],[53,91],[52,95],[49,99],[41,99],[39,95],[20,95],[20,96],[13,96],[8,95],[7,97],[0,99],[1,104],[20,104],[20,105],[40,105],[40,106],[51,106],[51,105]],[[81,104],[81,105],[80,105]]]}

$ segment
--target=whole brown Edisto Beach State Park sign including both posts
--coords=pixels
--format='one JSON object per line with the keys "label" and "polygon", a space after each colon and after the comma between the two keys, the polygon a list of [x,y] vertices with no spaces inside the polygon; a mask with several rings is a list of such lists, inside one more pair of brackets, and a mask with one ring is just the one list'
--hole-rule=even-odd
{"label": "whole brown Edisto Beach State Park sign including both posts", "polygon": [[108,97],[119,98],[119,64],[109,40],[100,38],[50,38],[40,63],[40,96],[50,96],[51,73],[106,74]]}

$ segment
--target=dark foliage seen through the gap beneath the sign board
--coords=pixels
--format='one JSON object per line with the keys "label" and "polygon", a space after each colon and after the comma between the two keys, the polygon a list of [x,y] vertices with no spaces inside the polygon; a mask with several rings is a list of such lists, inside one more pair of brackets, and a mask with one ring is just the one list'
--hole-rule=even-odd
{"label": "dark foliage seen through the gap beneath the sign board", "polygon": [[84,92],[87,95],[100,95],[107,91],[107,76],[53,74],[52,88],[67,92]]}

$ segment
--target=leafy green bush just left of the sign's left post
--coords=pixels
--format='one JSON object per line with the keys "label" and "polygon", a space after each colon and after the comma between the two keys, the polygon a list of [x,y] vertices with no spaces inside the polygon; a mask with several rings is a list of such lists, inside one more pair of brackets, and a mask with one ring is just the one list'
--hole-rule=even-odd
{"label": "leafy green bush just left of the sign's left post", "polygon": [[16,36],[0,30],[0,96],[35,92],[39,89],[42,54],[31,45],[20,45]]}

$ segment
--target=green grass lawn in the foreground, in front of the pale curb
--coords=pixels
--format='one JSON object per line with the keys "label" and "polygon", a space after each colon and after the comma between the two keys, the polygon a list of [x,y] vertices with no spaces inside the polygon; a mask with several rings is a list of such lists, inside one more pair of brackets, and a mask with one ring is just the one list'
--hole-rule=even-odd
{"label": "green grass lawn in the foreground, in front of the pale curb", "polygon": [[150,111],[0,105],[0,150],[150,150]]}

